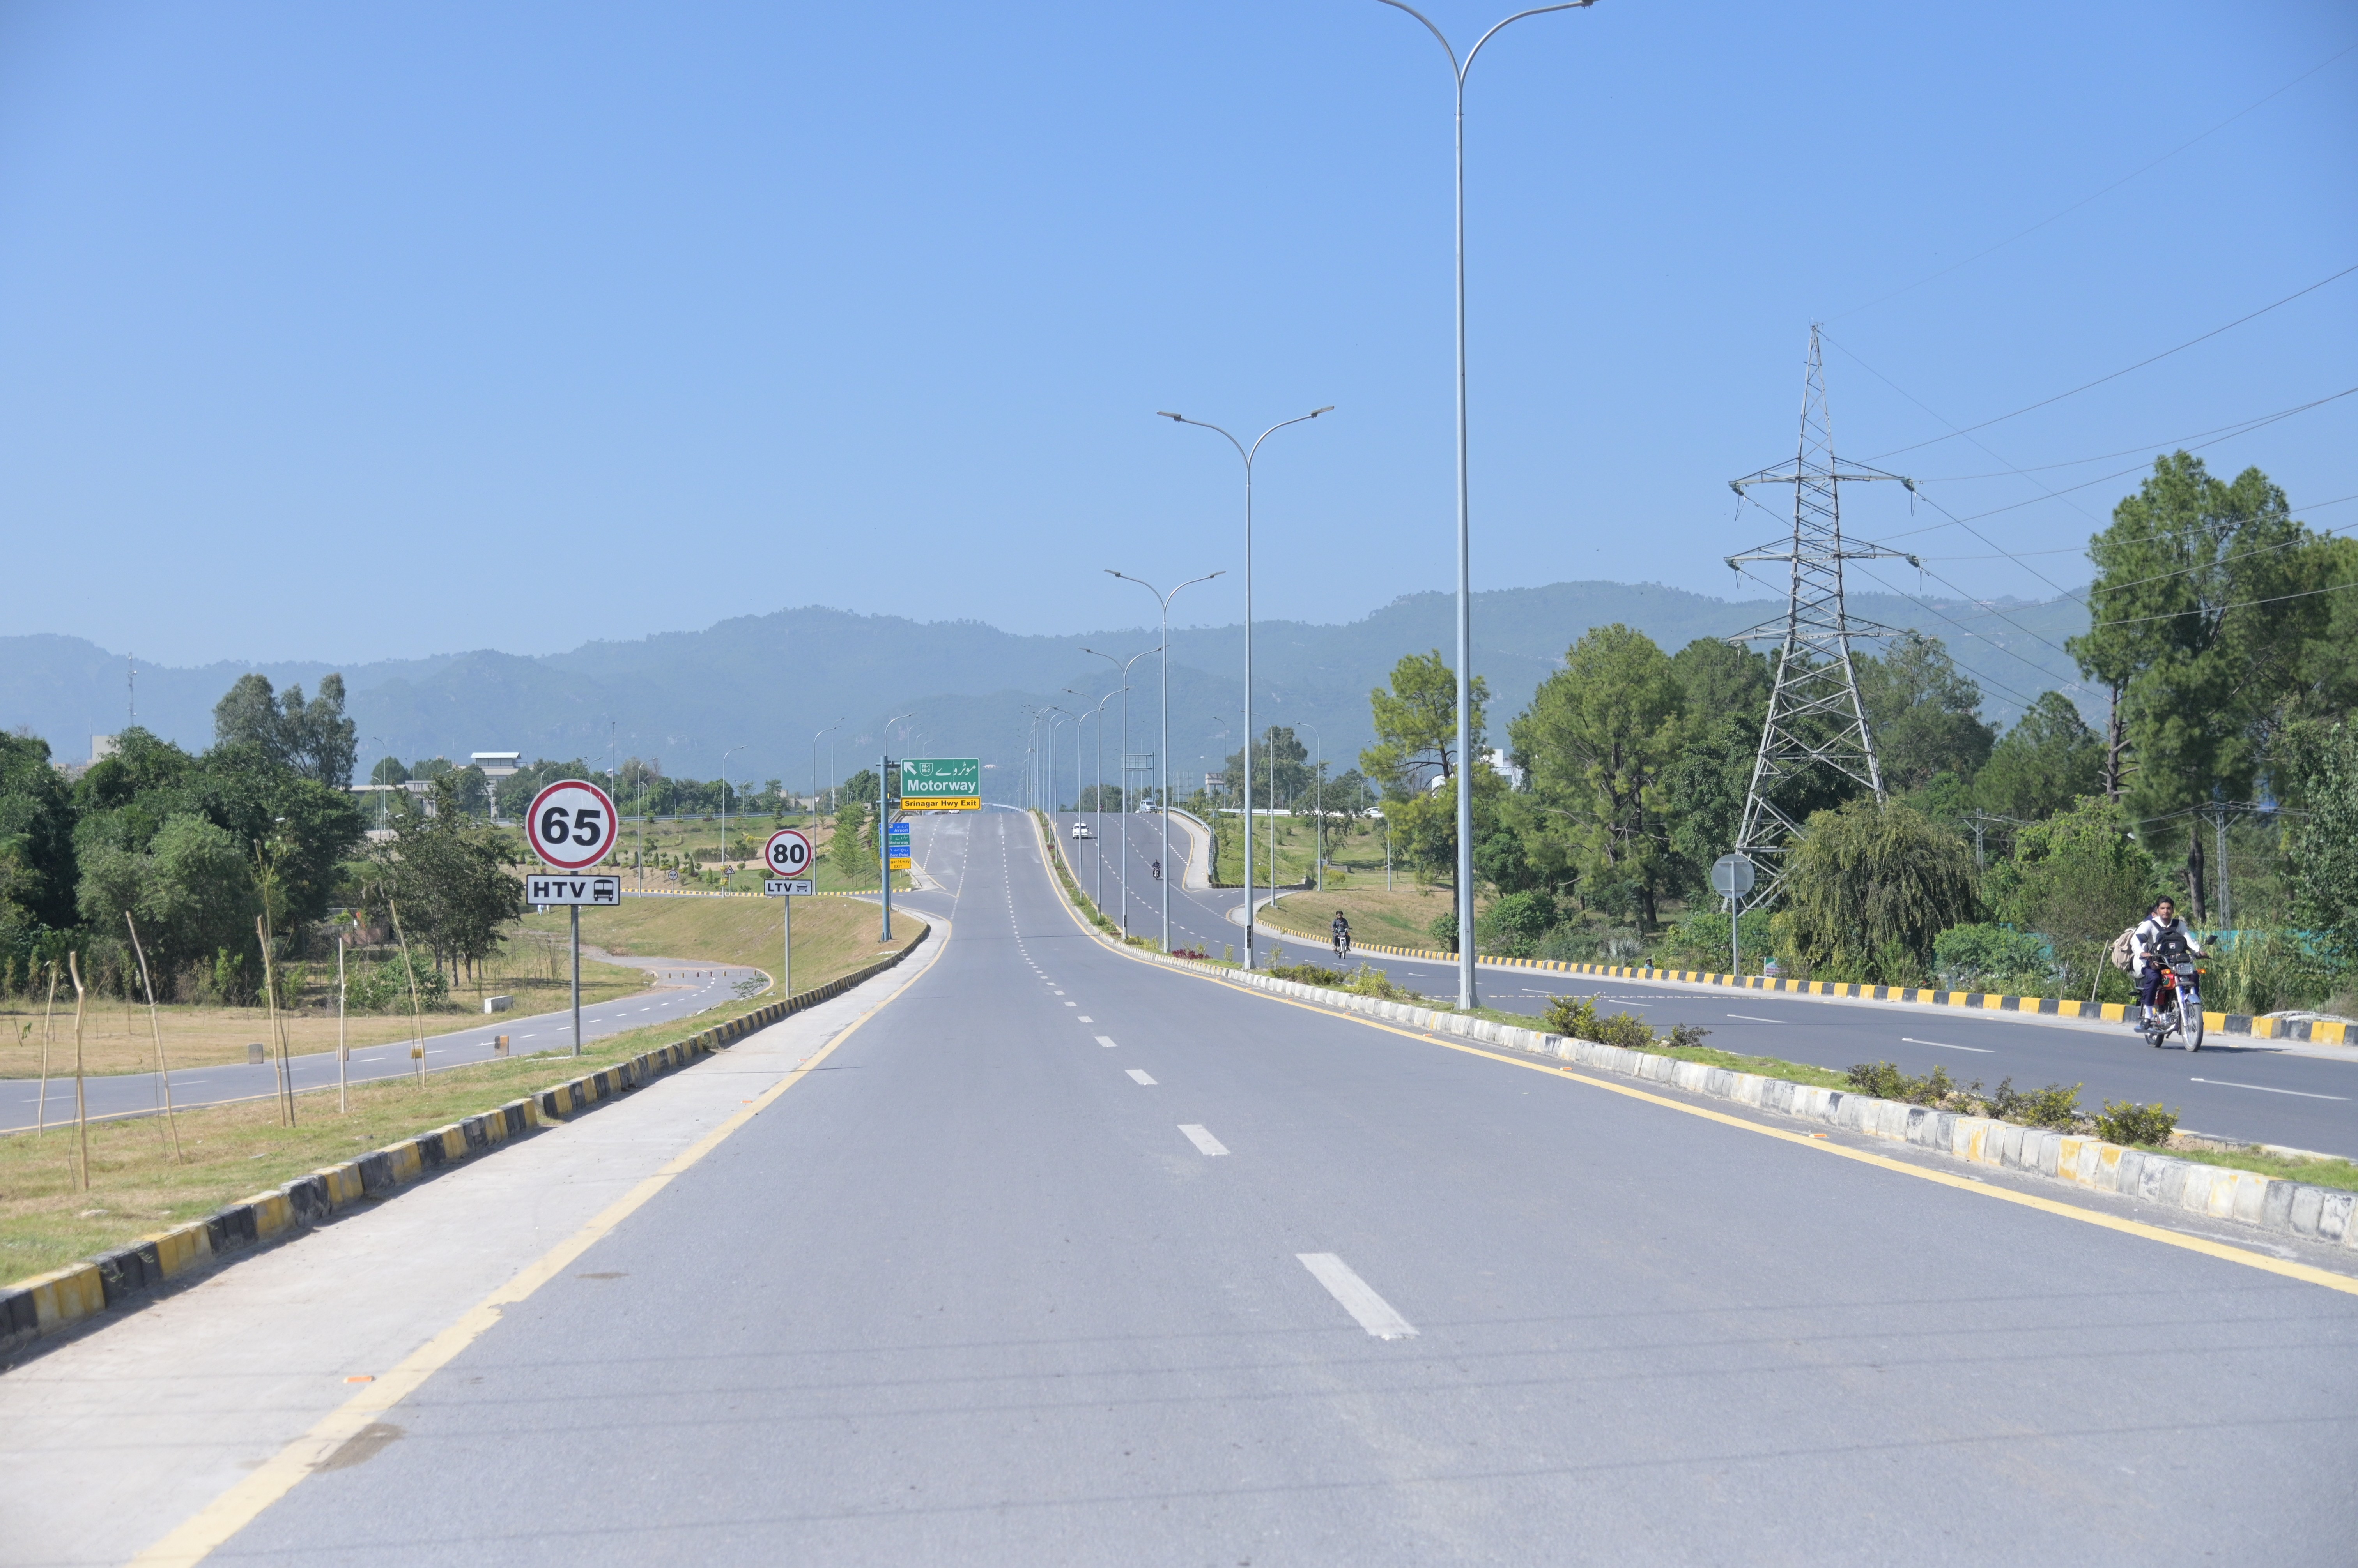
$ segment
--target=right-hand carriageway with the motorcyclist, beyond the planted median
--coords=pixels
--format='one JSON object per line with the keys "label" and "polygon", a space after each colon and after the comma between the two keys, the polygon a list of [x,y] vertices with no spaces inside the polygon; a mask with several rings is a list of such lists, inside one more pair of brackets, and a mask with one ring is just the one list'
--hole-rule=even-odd
{"label": "right-hand carriageway with the motorcyclist, beyond the planted median", "polygon": [[[1071,816],[1059,830],[1071,835]],[[1096,818],[1092,818],[1096,823]],[[1146,858],[1160,851],[1160,823],[1153,816],[1104,818],[1125,823],[1132,844],[1132,929],[1146,936],[1160,931],[1160,889],[1146,877]],[[1120,842],[1106,832],[1106,908],[1115,908],[1120,884]],[[1177,825],[1172,830],[1179,842]],[[1071,837],[1066,842],[1073,842]],[[1089,887],[1096,839],[1073,844]],[[1306,903],[1313,894],[1285,894],[1287,903]],[[1243,946],[1236,910],[1238,889],[1191,894],[1172,889],[1172,941],[1196,946],[1214,957],[1224,946]],[[1318,910],[1309,908],[1306,920]],[[1264,955],[1266,936],[1264,927]],[[1276,931],[1287,960],[1330,962],[1323,943]],[[1455,1000],[1457,969],[1443,960],[1377,955],[1361,960],[1434,997]],[[1981,1080],[1997,1087],[2011,1078],[2016,1089],[2049,1082],[2084,1085],[2080,1103],[2103,1101],[2165,1103],[2181,1113],[2188,1129],[2250,1144],[2278,1144],[2358,1158],[2358,1049],[2212,1035],[2198,1054],[2153,1049],[2125,1023],[2033,1021],[2021,1016],[1974,1014],[1964,1009],[1926,1009],[1905,1002],[1853,1002],[1835,997],[1799,997],[1768,993],[1733,993],[1717,986],[1681,986],[1677,981],[1629,981],[1549,969],[1483,969],[1478,976],[1483,1007],[1519,1014],[1542,1014],[1559,995],[1594,995],[1606,1012],[1632,1012],[1658,1030],[1672,1023],[1698,1023],[1712,1030],[1710,1045],[1752,1056],[1778,1056],[1820,1068],[1849,1070],[1863,1061],[1891,1061],[1908,1073],[1948,1068],[1959,1082]]]}

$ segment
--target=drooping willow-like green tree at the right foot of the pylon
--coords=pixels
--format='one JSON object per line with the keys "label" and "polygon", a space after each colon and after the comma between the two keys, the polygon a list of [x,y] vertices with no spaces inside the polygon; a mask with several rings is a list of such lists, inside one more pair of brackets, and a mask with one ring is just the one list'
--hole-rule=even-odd
{"label": "drooping willow-like green tree at the right foot of the pylon", "polygon": [[1934,938],[1978,917],[1974,849],[1912,806],[1858,797],[1809,818],[1773,927],[1813,974],[1919,986]]}

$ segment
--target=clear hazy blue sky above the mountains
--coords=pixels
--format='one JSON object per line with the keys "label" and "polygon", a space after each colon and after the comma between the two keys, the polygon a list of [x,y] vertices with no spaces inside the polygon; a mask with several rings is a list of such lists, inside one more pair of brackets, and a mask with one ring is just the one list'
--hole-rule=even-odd
{"label": "clear hazy blue sky above the mountains", "polygon": [[[1877,460],[2358,264],[2353,45],[2346,0],[1516,24],[1469,94],[1476,580],[1735,587],[1776,521],[1726,479],[1790,455],[1811,318]],[[1158,408],[1339,406],[1266,448],[1262,613],[1443,587],[1448,108],[1375,0],[0,5],[0,632],[191,663],[814,601],[1134,622],[1101,566],[1238,566],[1233,455]],[[2353,349],[2358,276],[1882,462],[1978,514],[2344,391]],[[2308,512],[2358,493],[2353,431],[2358,396],[2205,455],[2353,526]],[[2047,594],[2129,486],[1976,523],[2028,566],[1908,545]]]}

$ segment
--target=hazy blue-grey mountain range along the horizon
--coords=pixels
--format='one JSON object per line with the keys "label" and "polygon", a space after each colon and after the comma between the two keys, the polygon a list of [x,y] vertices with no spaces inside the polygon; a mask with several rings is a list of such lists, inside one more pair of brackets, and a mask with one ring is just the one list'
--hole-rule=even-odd
{"label": "hazy blue-grey mountain range along the horizon", "polygon": [[[1941,637],[1983,684],[1983,714],[2007,724],[2028,698],[2061,689],[2082,707],[2063,653],[2066,637],[2087,627],[2087,611],[2059,601],[1910,601],[1853,594],[1851,613]],[[1504,736],[1533,689],[1561,665],[1566,648],[1596,625],[1627,622],[1665,648],[1695,637],[1726,637],[1783,615],[1768,599],[1712,599],[1651,582],[1554,582],[1476,594],[1474,667],[1490,681],[1490,733]],[[1297,724],[1304,743],[1323,736],[1325,757],[1351,766],[1372,740],[1368,691],[1403,653],[1455,644],[1450,594],[1408,594],[1363,620],[1311,625],[1269,620],[1254,627],[1254,726]],[[585,757],[618,764],[658,757],[674,776],[712,778],[729,750],[729,776],[811,780],[811,733],[835,731],[835,762],[818,747],[821,778],[842,778],[877,750],[884,719],[894,750],[913,757],[983,757],[995,797],[1014,795],[1023,764],[1028,705],[1080,710],[1066,689],[1104,693],[1113,667],[1085,653],[1122,658],[1151,648],[1151,630],[1104,630],[1078,637],[1016,637],[979,620],[917,622],[898,615],[851,615],[830,608],[740,615],[703,632],[665,632],[637,641],[592,641],[571,653],[521,658],[474,651],[373,665],[217,663],[191,670],[139,665],[127,681],[125,655],[78,637],[0,637],[0,729],[45,736],[61,762],[90,755],[90,736],[130,719],[189,747],[212,740],[212,705],[231,681],[259,670],[281,689],[307,691],[342,672],[349,712],[361,726],[363,771],[382,755],[465,759],[467,752],[521,750],[533,757]],[[1170,750],[1172,783],[1217,769],[1243,733],[1243,627],[1172,632]],[[1158,660],[1132,667],[1129,750],[1158,750]],[[1106,705],[1106,769],[1118,778],[1120,700]],[[1071,726],[1056,738],[1061,795],[1073,792]],[[1094,778],[1092,738],[1082,731],[1082,780]]]}

